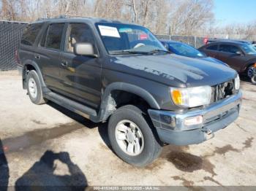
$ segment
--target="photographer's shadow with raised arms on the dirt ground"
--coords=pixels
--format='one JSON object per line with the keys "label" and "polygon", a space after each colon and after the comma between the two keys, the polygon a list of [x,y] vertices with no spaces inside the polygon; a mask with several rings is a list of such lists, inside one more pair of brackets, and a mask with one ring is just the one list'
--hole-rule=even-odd
{"label": "photographer's shadow with raised arms on the dirt ground", "polygon": [[[57,175],[56,160],[67,165],[69,174]],[[86,176],[72,163],[68,152],[46,151],[39,161],[15,182],[15,190],[85,190]]]}

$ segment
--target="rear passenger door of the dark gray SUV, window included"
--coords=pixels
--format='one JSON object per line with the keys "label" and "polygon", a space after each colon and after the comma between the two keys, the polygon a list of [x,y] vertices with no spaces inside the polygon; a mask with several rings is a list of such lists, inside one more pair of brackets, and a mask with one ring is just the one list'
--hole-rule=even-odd
{"label": "rear passenger door of the dark gray SUV, window included", "polygon": [[61,85],[61,46],[64,43],[65,23],[50,23],[39,43],[35,59],[39,62],[45,84],[51,90],[59,90]]}

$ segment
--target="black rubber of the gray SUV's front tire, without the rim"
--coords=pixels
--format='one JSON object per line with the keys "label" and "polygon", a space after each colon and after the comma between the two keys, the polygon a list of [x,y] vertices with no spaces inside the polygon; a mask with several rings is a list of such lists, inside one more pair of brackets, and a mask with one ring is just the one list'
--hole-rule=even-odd
{"label": "black rubber of the gray SUV's front tire, without the rim", "polygon": [[[128,155],[118,145],[116,140],[116,126],[118,125],[118,122],[121,122],[122,120],[134,122],[143,134],[144,147],[138,155]],[[143,167],[152,163],[162,152],[161,143],[154,133],[151,122],[148,120],[147,115],[137,106],[122,106],[111,115],[108,122],[108,137],[116,155],[125,162],[138,167]]]}

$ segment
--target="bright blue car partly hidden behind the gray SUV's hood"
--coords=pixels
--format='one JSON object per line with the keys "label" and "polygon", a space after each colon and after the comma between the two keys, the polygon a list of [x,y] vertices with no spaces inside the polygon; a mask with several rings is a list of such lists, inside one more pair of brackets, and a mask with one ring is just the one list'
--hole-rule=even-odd
{"label": "bright blue car partly hidden behind the gray SUV's hood", "polygon": [[228,66],[226,63],[223,63],[222,61],[219,61],[216,58],[208,57],[204,52],[200,52],[199,50],[195,49],[195,47],[192,47],[184,42],[177,42],[164,39],[160,40],[160,42],[162,42],[162,44],[167,48],[167,50],[173,52],[176,55],[183,55],[189,58],[198,58],[204,61],[220,63],[225,66]]}

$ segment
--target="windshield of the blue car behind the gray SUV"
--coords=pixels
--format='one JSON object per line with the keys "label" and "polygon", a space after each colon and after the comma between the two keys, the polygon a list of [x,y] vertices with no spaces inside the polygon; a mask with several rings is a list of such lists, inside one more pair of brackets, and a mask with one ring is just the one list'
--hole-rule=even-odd
{"label": "windshield of the blue car behind the gray SUV", "polygon": [[169,43],[169,49],[171,52],[176,55],[184,55],[192,58],[203,58],[206,55],[199,50],[196,50],[194,47],[189,46],[188,44],[183,43]]}

